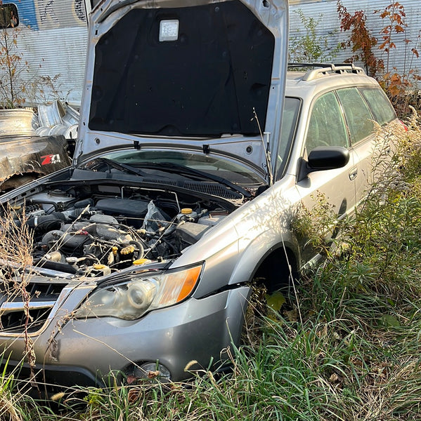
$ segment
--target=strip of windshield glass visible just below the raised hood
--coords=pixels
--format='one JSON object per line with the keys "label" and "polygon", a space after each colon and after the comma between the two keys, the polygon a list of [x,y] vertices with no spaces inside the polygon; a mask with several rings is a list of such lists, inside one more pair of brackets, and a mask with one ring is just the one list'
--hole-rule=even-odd
{"label": "strip of windshield glass visible just below the raised hood", "polygon": [[[200,171],[209,174],[209,176],[224,178],[238,185],[261,185],[264,183],[264,180],[257,173],[240,163],[193,152],[131,149],[130,151],[103,154],[101,159],[108,159],[124,166],[141,168],[142,175],[181,178],[178,174],[182,174],[183,177],[197,178],[193,171]],[[93,163],[96,163],[95,159],[84,164],[83,167],[91,169]],[[105,165],[103,168],[108,171],[110,166]],[[182,171],[181,168],[192,170],[191,174]]]}

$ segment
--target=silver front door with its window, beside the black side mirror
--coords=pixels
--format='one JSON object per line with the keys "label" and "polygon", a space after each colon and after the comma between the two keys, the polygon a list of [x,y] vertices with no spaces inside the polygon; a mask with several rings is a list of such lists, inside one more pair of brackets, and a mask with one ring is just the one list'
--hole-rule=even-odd
{"label": "silver front door with its window, beside the black side mirror", "polygon": [[[344,218],[352,213],[355,207],[354,152],[349,145],[349,135],[344,121],[344,114],[339,105],[335,91],[330,91],[317,98],[311,107],[309,123],[304,141],[302,165],[305,165],[308,154],[316,147],[344,147],[349,149],[349,162],[342,168],[313,171],[301,180],[297,175],[297,189],[305,208],[310,210],[315,220],[314,229],[320,229],[320,212],[326,217]],[[311,211],[313,210],[313,211]],[[329,215],[328,215],[329,214]],[[328,239],[337,232],[331,227],[324,233]],[[318,255],[319,250],[306,241],[302,241],[302,258],[309,261]]]}

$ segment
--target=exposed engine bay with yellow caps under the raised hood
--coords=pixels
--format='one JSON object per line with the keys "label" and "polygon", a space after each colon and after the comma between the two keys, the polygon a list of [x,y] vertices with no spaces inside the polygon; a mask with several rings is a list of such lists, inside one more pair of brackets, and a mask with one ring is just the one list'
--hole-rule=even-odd
{"label": "exposed engine bay with yellow caps under the raised hood", "polygon": [[105,276],[174,260],[237,207],[203,196],[115,182],[56,182],[9,206],[15,225],[32,232],[34,266]]}

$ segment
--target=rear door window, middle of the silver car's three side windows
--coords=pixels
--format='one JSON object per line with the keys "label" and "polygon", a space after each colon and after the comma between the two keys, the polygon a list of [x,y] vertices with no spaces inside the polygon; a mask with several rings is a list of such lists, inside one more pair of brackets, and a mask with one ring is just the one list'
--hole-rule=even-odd
{"label": "rear door window, middle of the silver car's three side windows", "polygon": [[338,89],[337,95],[344,108],[346,123],[351,133],[351,143],[359,142],[371,135],[374,131],[374,117],[358,89]]}

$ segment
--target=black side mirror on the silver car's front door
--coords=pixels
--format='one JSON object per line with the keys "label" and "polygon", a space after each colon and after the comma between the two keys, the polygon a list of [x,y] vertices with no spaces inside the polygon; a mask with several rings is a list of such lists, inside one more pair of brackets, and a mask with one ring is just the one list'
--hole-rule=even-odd
{"label": "black side mirror on the silver car's front door", "polygon": [[307,161],[302,160],[299,180],[313,171],[335,170],[349,162],[349,151],[342,146],[318,146],[311,150]]}

